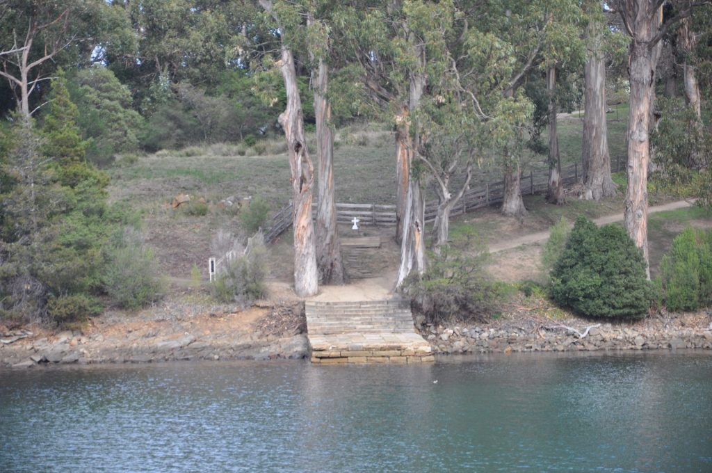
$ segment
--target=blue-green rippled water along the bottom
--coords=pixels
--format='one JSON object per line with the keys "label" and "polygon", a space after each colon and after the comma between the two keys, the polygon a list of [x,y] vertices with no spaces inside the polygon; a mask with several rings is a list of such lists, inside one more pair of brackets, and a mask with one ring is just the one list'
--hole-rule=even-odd
{"label": "blue-green rippled water along the bottom", "polygon": [[2,472],[712,472],[711,421],[709,353],[0,371]]}

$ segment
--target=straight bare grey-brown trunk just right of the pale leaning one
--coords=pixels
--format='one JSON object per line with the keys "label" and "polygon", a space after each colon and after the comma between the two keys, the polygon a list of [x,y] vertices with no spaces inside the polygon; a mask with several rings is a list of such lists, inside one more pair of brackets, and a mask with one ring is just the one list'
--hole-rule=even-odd
{"label": "straight bare grey-brown trunk just right of the pale leaning one", "polygon": [[314,111],[316,114],[316,140],[318,168],[318,204],[316,216],[316,262],[322,284],[343,284],[344,265],[341,244],[336,227],[334,199],[334,133],[331,128],[331,105],[326,98],[329,84],[329,66],[319,61],[313,78]]}

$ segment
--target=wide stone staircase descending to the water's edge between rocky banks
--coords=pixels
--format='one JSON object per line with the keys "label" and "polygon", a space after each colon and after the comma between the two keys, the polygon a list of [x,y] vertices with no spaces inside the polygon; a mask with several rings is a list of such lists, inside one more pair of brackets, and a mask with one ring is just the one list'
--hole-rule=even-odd
{"label": "wide stone staircase descending to the water's edge between rocky banks", "polygon": [[305,303],[313,363],[420,363],[431,347],[415,332],[407,301]]}

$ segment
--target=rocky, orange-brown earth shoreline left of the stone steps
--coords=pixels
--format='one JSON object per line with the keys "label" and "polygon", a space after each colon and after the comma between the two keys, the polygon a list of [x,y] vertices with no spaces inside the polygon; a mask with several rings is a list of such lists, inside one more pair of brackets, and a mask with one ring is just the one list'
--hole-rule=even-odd
{"label": "rocky, orange-brown earth shoreline left of the stone steps", "polygon": [[0,328],[0,368],[308,356],[298,305],[203,309],[163,306],[129,317],[109,313],[82,331]]}

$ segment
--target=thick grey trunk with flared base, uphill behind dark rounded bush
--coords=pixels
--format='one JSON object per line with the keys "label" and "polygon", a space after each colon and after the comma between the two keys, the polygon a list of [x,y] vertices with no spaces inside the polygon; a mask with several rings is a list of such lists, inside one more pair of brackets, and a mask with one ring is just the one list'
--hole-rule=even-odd
{"label": "thick grey trunk with flared base, uphill behind dark rounded bush", "polygon": [[[600,5],[597,1],[596,5]],[[611,177],[606,122],[606,65],[602,53],[602,24],[592,20],[587,28],[588,61],[584,70],[583,182],[585,200],[600,200],[616,193]]]}

